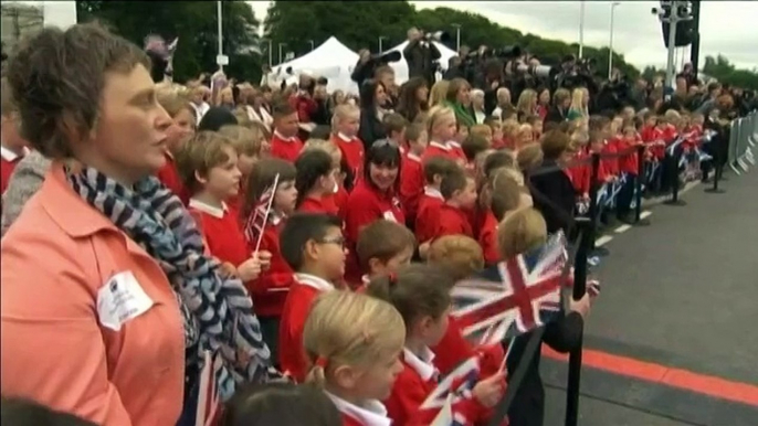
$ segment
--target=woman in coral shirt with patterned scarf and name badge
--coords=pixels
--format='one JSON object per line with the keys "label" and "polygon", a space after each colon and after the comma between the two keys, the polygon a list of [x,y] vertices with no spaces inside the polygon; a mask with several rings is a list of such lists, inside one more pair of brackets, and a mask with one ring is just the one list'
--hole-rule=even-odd
{"label": "woman in coral shirt with patterned scarf and name badge", "polygon": [[42,30],[7,70],[21,134],[53,163],[0,246],[0,392],[98,425],[176,425],[221,347],[222,398],[232,376],[270,374],[242,284],[154,177],[171,119],[149,67],[78,24]]}

